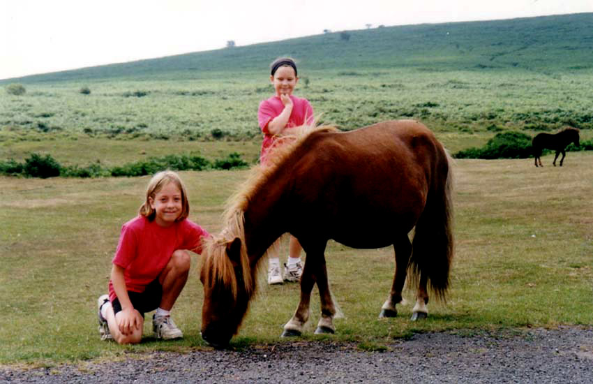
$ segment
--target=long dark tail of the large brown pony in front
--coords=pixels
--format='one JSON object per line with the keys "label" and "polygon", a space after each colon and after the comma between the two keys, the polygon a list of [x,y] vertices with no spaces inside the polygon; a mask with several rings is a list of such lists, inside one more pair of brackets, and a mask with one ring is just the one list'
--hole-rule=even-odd
{"label": "long dark tail of the large brown pony in front", "polygon": [[437,169],[446,171],[443,182],[433,175],[426,198],[426,207],[421,214],[412,240],[409,276],[417,283],[422,276],[428,278],[428,287],[438,299],[445,301],[449,288],[449,270],[453,261],[453,160],[444,152],[445,164]]}

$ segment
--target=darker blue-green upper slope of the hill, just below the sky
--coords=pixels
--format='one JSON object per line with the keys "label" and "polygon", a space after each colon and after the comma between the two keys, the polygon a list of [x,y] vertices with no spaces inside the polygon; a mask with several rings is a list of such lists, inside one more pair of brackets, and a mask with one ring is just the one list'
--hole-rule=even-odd
{"label": "darker blue-green upper slope of the hill, just below the sky", "polygon": [[593,68],[592,25],[593,13],[580,13],[488,22],[378,27],[10,81],[31,83],[114,77],[193,79],[218,76],[220,72],[261,71],[272,59],[284,54],[299,58],[303,70],[307,71],[383,68],[421,71],[520,68],[548,73],[590,71]]}

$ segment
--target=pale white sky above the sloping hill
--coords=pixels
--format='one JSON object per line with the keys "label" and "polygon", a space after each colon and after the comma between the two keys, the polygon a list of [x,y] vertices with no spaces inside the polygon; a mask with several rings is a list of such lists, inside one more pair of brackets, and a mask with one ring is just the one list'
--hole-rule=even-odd
{"label": "pale white sky above the sloping hill", "polygon": [[217,50],[229,40],[583,12],[593,12],[593,0],[0,0],[0,80]]}

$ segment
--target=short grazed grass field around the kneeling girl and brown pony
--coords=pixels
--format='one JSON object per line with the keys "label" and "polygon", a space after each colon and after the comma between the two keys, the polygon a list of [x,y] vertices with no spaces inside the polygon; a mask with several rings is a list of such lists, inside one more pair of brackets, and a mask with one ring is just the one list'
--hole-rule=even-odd
{"label": "short grazed grass field around the kneeling girl and brown pony", "polygon": [[[380,345],[412,332],[496,327],[593,324],[593,155],[570,153],[562,168],[531,160],[456,163],[456,258],[449,300],[429,304],[430,317],[410,322],[411,306],[395,319],[379,320],[391,286],[391,249],[361,251],[330,243],[328,271],[345,317],[336,340]],[[182,172],[190,193],[190,217],[210,232],[220,230],[225,200],[247,171]],[[186,350],[200,338],[200,257],[174,308],[183,341],[139,346],[101,342],[96,298],[107,289],[110,260],[121,223],[133,217],[147,177],[16,179],[1,177],[0,364],[55,364],[126,351]],[[235,346],[280,343],[298,301],[296,284],[260,291]],[[317,339],[315,290],[304,339]],[[414,293],[407,293],[413,301]]]}

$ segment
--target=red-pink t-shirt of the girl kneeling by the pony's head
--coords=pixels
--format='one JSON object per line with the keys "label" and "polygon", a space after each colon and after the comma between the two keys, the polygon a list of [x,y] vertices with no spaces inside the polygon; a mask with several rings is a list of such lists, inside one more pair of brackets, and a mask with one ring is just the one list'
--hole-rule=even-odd
{"label": "red-pink t-shirt of the girl kneeling by the pony's head", "polygon": [[[112,263],[125,269],[127,290],[142,293],[163,271],[174,251],[187,249],[202,253],[202,237],[209,237],[208,232],[188,219],[165,228],[156,221],[137,216],[121,226]],[[109,298],[113,301],[115,297],[110,281]]]}

